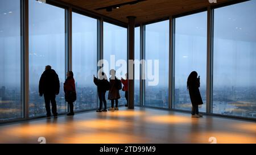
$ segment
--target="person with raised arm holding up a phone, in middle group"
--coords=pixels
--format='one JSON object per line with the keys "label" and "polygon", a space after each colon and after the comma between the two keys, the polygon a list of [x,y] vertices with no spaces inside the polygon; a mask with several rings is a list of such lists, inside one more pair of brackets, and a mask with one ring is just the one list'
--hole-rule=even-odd
{"label": "person with raised arm holding up a phone, in middle group", "polygon": [[[97,86],[98,90],[98,99],[100,100],[100,107],[98,108],[97,112],[104,111],[106,112],[106,91],[109,90],[109,82],[104,72],[100,73],[100,78],[96,78],[93,76],[93,82]],[[102,110],[102,102],[104,103],[104,110]]]}

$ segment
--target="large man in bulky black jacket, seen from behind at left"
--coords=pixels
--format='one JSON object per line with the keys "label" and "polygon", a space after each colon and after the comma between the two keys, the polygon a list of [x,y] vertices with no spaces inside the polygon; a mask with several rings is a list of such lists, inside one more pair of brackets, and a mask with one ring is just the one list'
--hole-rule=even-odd
{"label": "large man in bulky black jacket, seen from behind at left", "polygon": [[60,81],[59,76],[52,69],[51,66],[46,66],[46,70],[43,72],[39,81],[39,95],[42,97],[44,95],[44,102],[46,103],[47,118],[51,118],[51,107],[52,104],[52,114],[57,118],[57,105],[56,105],[56,95],[60,92]]}

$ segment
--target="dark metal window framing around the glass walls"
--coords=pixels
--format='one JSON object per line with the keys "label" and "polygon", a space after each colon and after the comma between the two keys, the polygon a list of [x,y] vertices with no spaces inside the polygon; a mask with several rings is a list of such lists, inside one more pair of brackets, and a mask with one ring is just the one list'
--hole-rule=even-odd
{"label": "dark metal window framing around the glass walls", "polygon": [[[5,120],[1,121],[2,123],[10,123],[10,122],[17,122],[22,120],[30,120],[35,118],[42,118],[42,116],[38,116],[35,118],[30,118],[28,115],[28,1],[29,0],[20,0],[20,52],[21,52],[21,90],[22,90],[22,104],[23,104],[23,118],[20,119],[14,119],[14,120]],[[36,1],[36,0],[34,0]],[[253,120],[256,121],[254,118],[244,118],[240,116],[230,116],[230,115],[221,115],[221,114],[213,114],[212,113],[212,78],[213,78],[213,16],[214,16],[214,9],[217,9],[219,7],[225,7],[229,5],[234,5],[237,3],[246,2],[249,0],[234,0],[230,2],[224,2],[217,5],[210,5],[207,8],[204,8],[204,11],[207,10],[207,112],[205,114],[207,115],[213,115],[213,116],[222,116],[224,118],[234,118],[234,119],[242,119],[242,120]],[[115,24],[117,26],[125,27],[127,28],[128,25],[126,23],[120,22],[118,20],[109,18],[108,16],[100,15],[92,11],[88,11],[85,9],[81,9],[80,7],[76,7],[73,5],[69,5],[65,2],[60,1],[54,1],[54,0],[48,0],[47,3],[49,5],[54,5],[56,7],[61,7],[65,9],[65,70],[72,69],[72,11],[77,12],[79,14],[89,16],[91,18],[97,19],[97,57],[98,60],[103,58],[103,22],[108,22],[111,24]],[[178,16],[184,16],[193,14],[195,12],[201,12],[200,9],[197,9],[195,11],[191,12],[185,12],[182,14],[177,14],[173,16],[167,16],[165,18],[156,19],[151,22],[147,23],[141,23],[138,24],[136,27],[140,27],[140,57],[141,59],[145,58],[145,25],[149,23],[155,23],[155,22],[161,22],[163,20],[170,20],[170,30],[169,30],[169,107],[168,110],[173,111],[181,111],[181,110],[174,110],[173,109],[173,102],[174,102],[174,32],[175,32],[175,18]],[[127,39],[128,40],[128,39]],[[99,69],[99,68],[98,68]],[[143,70],[140,68],[140,77],[142,76]],[[141,100],[141,106],[144,105],[144,80],[140,79],[140,100]],[[136,105],[137,106],[137,105]],[[156,107],[154,107],[156,108]],[[165,108],[166,109],[166,108]],[[82,110],[82,111],[90,111],[90,110]],[[80,112],[80,111],[79,111]],[[185,111],[188,112],[188,111]]]}

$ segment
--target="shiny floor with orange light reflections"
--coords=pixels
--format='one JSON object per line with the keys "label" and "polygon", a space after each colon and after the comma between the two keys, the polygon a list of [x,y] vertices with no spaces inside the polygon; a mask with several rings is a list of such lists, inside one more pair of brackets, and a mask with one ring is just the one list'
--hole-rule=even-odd
{"label": "shiny floor with orange light reflections", "polygon": [[256,143],[256,123],[151,108],[0,125],[0,143]]}

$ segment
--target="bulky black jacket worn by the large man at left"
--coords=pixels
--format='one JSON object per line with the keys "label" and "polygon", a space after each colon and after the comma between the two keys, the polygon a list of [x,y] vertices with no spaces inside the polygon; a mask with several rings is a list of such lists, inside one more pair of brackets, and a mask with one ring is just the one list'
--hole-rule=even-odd
{"label": "bulky black jacket worn by the large man at left", "polygon": [[39,94],[57,95],[59,92],[59,76],[53,69],[45,70],[39,81]]}

